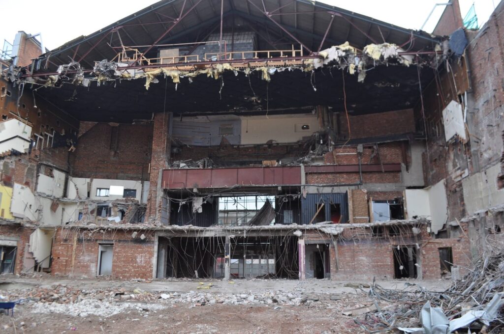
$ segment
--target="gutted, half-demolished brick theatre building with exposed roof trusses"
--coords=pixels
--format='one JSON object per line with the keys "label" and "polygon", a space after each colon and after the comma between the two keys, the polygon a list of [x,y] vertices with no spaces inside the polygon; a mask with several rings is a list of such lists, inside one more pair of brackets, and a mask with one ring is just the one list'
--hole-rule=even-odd
{"label": "gutted, half-demolished brick theatre building with exposed roof trusses", "polygon": [[[449,10],[448,10],[449,9]],[[500,4],[164,0],[0,86],[2,273],[457,277],[504,224]]]}

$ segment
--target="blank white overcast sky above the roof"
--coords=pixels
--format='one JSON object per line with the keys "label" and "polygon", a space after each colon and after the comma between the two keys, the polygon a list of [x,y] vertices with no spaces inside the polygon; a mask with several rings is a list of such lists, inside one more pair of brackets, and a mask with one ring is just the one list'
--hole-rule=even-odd
{"label": "blank white overcast sky above the roof", "polygon": [[[459,0],[462,17],[475,4],[480,27],[500,0]],[[0,47],[12,43],[20,30],[42,34],[47,49],[56,48],[81,35],[89,35],[157,1],[124,0],[0,0]],[[436,3],[448,0],[322,0],[359,14],[410,29],[420,29]],[[431,32],[445,6],[438,6],[424,30]]]}

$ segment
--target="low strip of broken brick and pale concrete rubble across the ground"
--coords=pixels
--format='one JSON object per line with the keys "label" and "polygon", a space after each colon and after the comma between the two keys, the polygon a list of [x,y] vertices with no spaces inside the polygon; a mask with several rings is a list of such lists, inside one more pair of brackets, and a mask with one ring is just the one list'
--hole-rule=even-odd
{"label": "low strip of broken brick and pale concrete rubble across the ground", "polygon": [[346,295],[308,294],[304,288],[221,293],[212,290],[213,284],[200,282],[194,291],[189,292],[148,292],[141,289],[127,291],[124,288],[79,290],[65,284],[56,284],[2,293],[7,300],[25,300],[33,313],[64,313],[82,317],[92,314],[108,317],[133,310],[147,315],[150,311],[175,307],[176,304],[187,304],[188,307],[215,304],[270,305],[274,308],[285,305],[326,307],[328,301],[352,300]]}

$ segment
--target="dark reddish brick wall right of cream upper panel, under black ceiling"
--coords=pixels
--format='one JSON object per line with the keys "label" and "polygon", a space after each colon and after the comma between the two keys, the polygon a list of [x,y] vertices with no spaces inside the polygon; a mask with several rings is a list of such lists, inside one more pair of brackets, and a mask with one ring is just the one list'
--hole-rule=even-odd
{"label": "dark reddish brick wall right of cream upper panel, under black ceiling", "polygon": [[[360,116],[349,116],[350,139],[379,137],[415,131],[412,109],[390,111]],[[345,115],[339,117],[340,139],[348,139],[348,121]]]}

